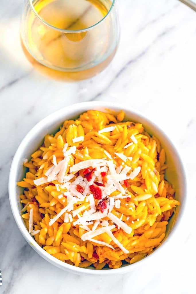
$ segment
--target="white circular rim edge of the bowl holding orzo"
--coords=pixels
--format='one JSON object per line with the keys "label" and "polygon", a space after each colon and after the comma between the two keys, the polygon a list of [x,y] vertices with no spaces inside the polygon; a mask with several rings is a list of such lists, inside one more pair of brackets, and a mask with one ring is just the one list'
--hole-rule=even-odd
{"label": "white circular rim edge of the bowl holding orzo", "polygon": [[[154,250],[150,255],[147,255],[145,258],[143,258],[142,260],[137,261],[136,263],[130,264],[130,265],[126,265],[124,267],[120,267],[120,268],[116,268],[116,269],[110,269],[110,270],[94,270],[94,269],[88,269],[88,268],[79,268],[79,267],[74,267],[73,265],[69,265],[67,263],[63,263],[62,261],[58,260],[57,258],[53,257],[52,255],[50,255],[49,253],[47,253],[45,250],[43,250],[43,248],[41,248],[35,241],[35,239],[33,239],[31,237],[31,235],[29,234],[29,232],[26,230],[25,226],[24,226],[24,222],[19,214],[19,208],[18,208],[18,203],[17,203],[17,193],[16,193],[16,186],[13,185],[13,182],[15,181],[15,175],[16,175],[16,171],[18,169],[18,159],[20,158],[20,156],[23,153],[23,146],[24,144],[26,144],[27,142],[31,142],[31,137],[33,136],[34,133],[39,132],[40,130],[43,130],[44,128],[47,127],[48,123],[51,123],[51,121],[54,120],[54,118],[56,118],[57,116],[65,116],[65,120],[66,120],[66,116],[69,116],[69,113],[74,111],[83,111],[83,108],[86,108],[86,110],[90,110],[93,107],[105,107],[107,109],[113,109],[113,108],[117,108],[119,110],[124,110],[124,111],[130,111],[131,113],[133,113],[134,115],[137,115],[143,119],[145,119],[146,124],[151,124],[154,128],[156,128],[157,131],[159,131],[160,133],[162,133],[162,135],[166,138],[167,142],[169,142],[175,152],[175,155],[177,156],[177,160],[179,161],[182,173],[183,173],[183,179],[184,179],[184,198],[183,198],[183,203],[181,204],[181,208],[178,214],[178,219],[177,222],[175,222],[175,225],[172,227],[172,230],[169,234],[169,236],[164,240],[164,242],[158,246],[158,248],[156,248],[156,250]],[[160,251],[160,248],[163,248],[163,245],[167,245],[168,241],[170,240],[170,237],[172,235],[174,235],[177,231],[177,228],[179,228],[180,226],[180,220],[182,219],[182,215],[184,214],[185,211],[185,206],[186,206],[186,200],[187,200],[187,173],[185,170],[185,167],[182,163],[182,159],[180,157],[180,154],[178,153],[175,145],[172,143],[172,141],[170,140],[170,138],[165,134],[165,132],[159,127],[157,126],[153,121],[151,121],[148,117],[146,117],[145,115],[143,115],[140,111],[132,108],[132,107],[122,107],[120,104],[118,103],[113,103],[113,102],[103,102],[103,101],[87,101],[87,102],[81,102],[81,103],[75,103],[72,104],[70,106],[66,106],[64,108],[61,108],[51,114],[49,114],[48,116],[46,116],[45,118],[43,118],[41,121],[39,121],[33,128],[31,128],[31,130],[26,134],[26,136],[24,137],[24,139],[21,141],[19,147],[16,150],[16,153],[14,155],[14,158],[12,160],[11,163],[11,168],[10,168],[10,173],[9,173],[9,184],[8,184],[8,188],[9,188],[9,201],[10,201],[10,206],[11,206],[11,210],[12,210],[12,214],[14,216],[14,219],[16,221],[16,224],[19,227],[19,230],[21,231],[21,234],[23,235],[23,237],[25,238],[25,240],[29,243],[29,245],[41,256],[43,257],[45,260],[47,260],[48,262],[50,262],[51,264],[57,266],[58,268],[61,268],[63,270],[67,270],[69,272],[72,273],[76,273],[76,274],[90,274],[90,275],[113,275],[113,274],[122,274],[122,273],[127,273],[131,270],[134,270],[135,268],[137,268],[139,265],[142,265],[144,263],[146,263],[146,261],[148,261],[149,257],[155,257],[155,253]],[[25,230],[24,230],[25,228]]]}

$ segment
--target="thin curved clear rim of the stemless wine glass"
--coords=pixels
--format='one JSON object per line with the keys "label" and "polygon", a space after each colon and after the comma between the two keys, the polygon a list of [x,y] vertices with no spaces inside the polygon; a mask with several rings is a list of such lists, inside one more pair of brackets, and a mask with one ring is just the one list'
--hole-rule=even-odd
{"label": "thin curved clear rim of the stemless wine glass", "polygon": [[60,29],[60,28],[57,28],[56,26],[52,26],[51,24],[49,24],[47,21],[45,21],[38,13],[37,11],[35,10],[34,6],[33,6],[33,3],[32,3],[32,0],[29,0],[29,4],[31,6],[31,9],[33,11],[33,13],[35,14],[35,16],[43,23],[45,24],[46,26],[50,27],[51,29],[55,29],[56,31],[60,31],[62,33],[82,33],[82,32],[86,32],[86,31],[89,31],[91,29],[93,29],[94,27],[98,26],[100,23],[102,23],[111,13],[113,7],[114,7],[114,4],[115,4],[115,0],[112,1],[112,5],[110,7],[110,9],[108,10],[108,13],[100,20],[98,21],[96,24],[93,24],[92,26],[89,26],[88,28],[86,29],[81,29],[81,30],[66,30],[66,29]]}

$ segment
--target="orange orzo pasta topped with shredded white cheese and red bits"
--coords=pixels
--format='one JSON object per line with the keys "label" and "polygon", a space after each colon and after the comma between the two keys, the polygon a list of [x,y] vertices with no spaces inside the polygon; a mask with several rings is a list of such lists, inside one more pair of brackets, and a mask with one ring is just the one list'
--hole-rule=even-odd
{"label": "orange orzo pasta topped with shredded white cheese and red bits", "polygon": [[87,111],[65,121],[25,161],[22,218],[65,263],[119,268],[151,253],[180,203],[165,178],[165,151],[141,123]]}

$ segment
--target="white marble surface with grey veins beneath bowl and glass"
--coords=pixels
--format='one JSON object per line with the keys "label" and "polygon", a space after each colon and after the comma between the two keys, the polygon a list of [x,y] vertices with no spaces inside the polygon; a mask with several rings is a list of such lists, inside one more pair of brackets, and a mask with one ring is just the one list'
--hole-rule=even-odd
{"label": "white marble surface with grey veins beneath bowl and glass", "polygon": [[[0,5],[0,293],[195,293],[195,12],[177,0],[118,0],[121,39],[112,63],[90,80],[63,83],[41,76],[23,55],[22,0]],[[120,101],[152,118],[189,176],[185,216],[167,250],[143,268],[107,278],[72,275],[43,260],[19,232],[8,199],[9,168],[26,133],[53,111],[91,100]]]}

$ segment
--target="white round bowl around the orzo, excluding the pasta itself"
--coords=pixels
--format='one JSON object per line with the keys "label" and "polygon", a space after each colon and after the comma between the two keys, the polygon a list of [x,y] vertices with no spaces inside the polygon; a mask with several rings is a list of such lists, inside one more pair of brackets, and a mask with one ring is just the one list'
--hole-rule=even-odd
{"label": "white round bowl around the orzo, excluding the pasta itself", "polygon": [[[125,111],[125,119],[131,120],[133,122],[142,123],[146,131],[148,131],[151,135],[155,135],[160,140],[161,145],[165,148],[167,156],[168,168],[166,172],[166,178],[170,183],[172,183],[175,186],[176,199],[181,202],[181,205],[176,208],[175,214],[169,221],[165,240],[160,245],[160,247],[154,250],[151,255],[148,255],[143,260],[140,260],[131,265],[124,265],[118,269],[94,270],[93,268],[77,268],[73,265],[63,263],[62,261],[48,254],[36,243],[36,241],[31,237],[31,235],[29,235],[29,232],[27,231],[20,215],[21,204],[19,201],[19,195],[22,193],[22,188],[17,187],[16,182],[21,181],[21,179],[24,178],[24,175],[26,173],[26,168],[24,168],[23,166],[24,159],[31,158],[31,154],[41,145],[41,143],[43,142],[43,138],[46,134],[56,133],[56,131],[58,130],[59,126],[61,126],[63,121],[77,118],[81,113],[89,109],[96,109],[101,111],[105,111],[107,109],[119,111],[120,109],[122,109]],[[154,123],[149,121],[142,114],[138,113],[138,111],[135,111],[131,108],[125,109],[122,107],[122,105],[118,105],[112,102],[78,103],[60,109],[59,111],[56,111],[55,113],[52,113],[51,115],[44,118],[31,129],[31,131],[26,135],[26,137],[21,142],[14,156],[9,175],[9,199],[11,209],[16,220],[16,223],[24,238],[27,240],[29,245],[31,245],[31,247],[44,259],[48,260],[50,263],[56,265],[57,267],[63,270],[68,270],[69,272],[77,274],[119,274],[133,270],[135,269],[135,267],[138,267],[139,265],[146,264],[148,266],[150,258],[152,258],[152,256],[156,255],[157,253],[161,254],[161,248],[165,246],[167,241],[173,235],[174,231],[176,231],[176,228],[179,224],[179,220],[182,217],[182,212],[184,210],[186,194],[187,180],[185,170],[183,168],[182,161],[180,160],[180,157],[169,138],[163,133],[163,131],[161,131],[157,126],[155,126]]]}

